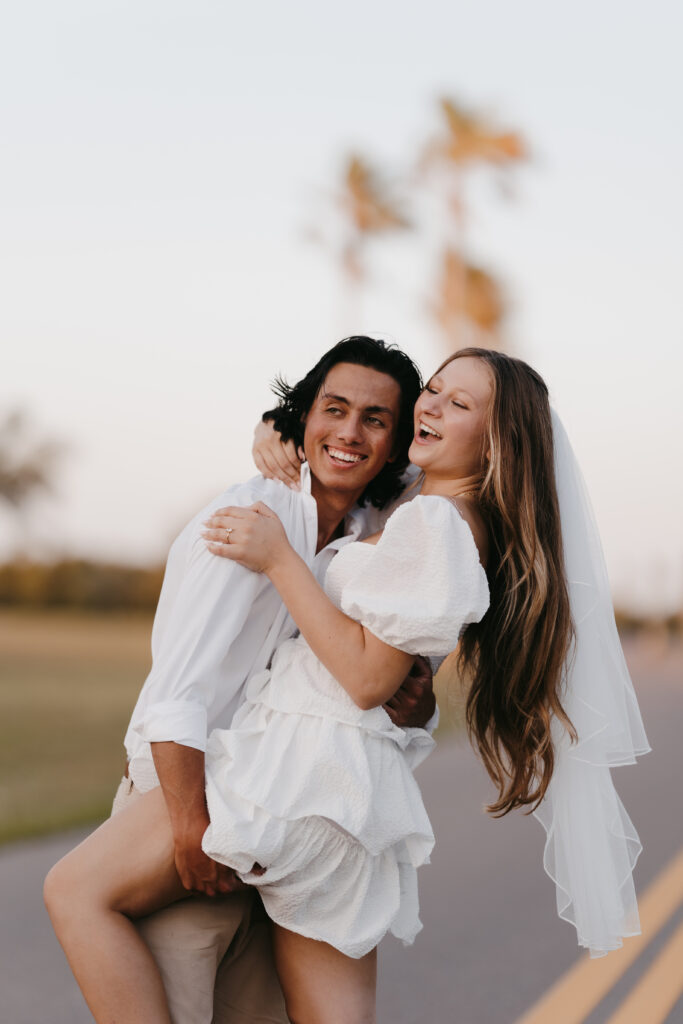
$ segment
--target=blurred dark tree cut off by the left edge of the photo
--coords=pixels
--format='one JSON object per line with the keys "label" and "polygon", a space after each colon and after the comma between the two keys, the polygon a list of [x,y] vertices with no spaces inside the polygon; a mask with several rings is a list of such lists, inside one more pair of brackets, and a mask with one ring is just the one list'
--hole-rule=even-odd
{"label": "blurred dark tree cut off by the left edge of the photo", "polygon": [[61,451],[55,441],[34,440],[24,413],[8,413],[0,420],[0,498],[19,509],[36,492],[49,490]]}

